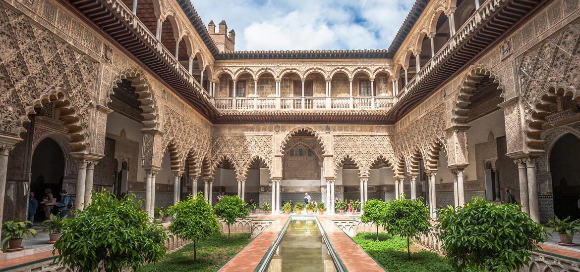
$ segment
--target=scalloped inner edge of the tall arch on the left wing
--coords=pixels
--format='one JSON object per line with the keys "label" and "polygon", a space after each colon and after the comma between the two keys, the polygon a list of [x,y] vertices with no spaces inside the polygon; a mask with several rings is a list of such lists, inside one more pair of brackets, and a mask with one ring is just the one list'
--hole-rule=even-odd
{"label": "scalloped inner edge of the tall arch on the left wing", "polygon": [[120,75],[115,77],[113,83],[111,83],[111,89],[107,95],[106,104],[112,101],[111,95],[115,93],[113,89],[117,88],[117,84],[121,83],[124,79],[131,82],[131,86],[135,87],[135,93],[139,95],[137,100],[141,102],[139,108],[141,108],[143,111],[143,126],[153,130],[158,129],[158,108],[157,102],[155,101],[155,95],[153,94],[153,90],[150,88],[150,84],[148,83],[147,78],[143,76],[143,71],[140,69],[126,69],[125,71],[121,72]]}

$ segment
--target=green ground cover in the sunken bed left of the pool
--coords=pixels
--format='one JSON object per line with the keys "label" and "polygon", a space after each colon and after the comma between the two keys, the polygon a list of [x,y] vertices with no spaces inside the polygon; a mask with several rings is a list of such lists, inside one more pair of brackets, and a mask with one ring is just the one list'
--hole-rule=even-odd
{"label": "green ground cover in the sunken bed left of the pool", "polygon": [[146,264],[140,272],[180,272],[215,271],[240,249],[248,244],[249,233],[227,235],[217,234],[197,242],[197,261],[193,260],[193,244],[188,244],[176,252],[168,253],[158,263]]}

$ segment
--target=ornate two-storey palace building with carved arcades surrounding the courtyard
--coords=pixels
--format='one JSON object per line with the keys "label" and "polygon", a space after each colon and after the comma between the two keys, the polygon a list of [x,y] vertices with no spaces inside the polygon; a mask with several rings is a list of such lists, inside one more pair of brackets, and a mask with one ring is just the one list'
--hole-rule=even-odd
{"label": "ornate two-storey palace building with carved arcades surrounding the courtyard", "polygon": [[436,216],[507,187],[537,221],[580,217],[579,9],[418,0],[388,49],[238,52],[189,0],[0,0],[0,214],[107,188],[150,212],[405,192]]}

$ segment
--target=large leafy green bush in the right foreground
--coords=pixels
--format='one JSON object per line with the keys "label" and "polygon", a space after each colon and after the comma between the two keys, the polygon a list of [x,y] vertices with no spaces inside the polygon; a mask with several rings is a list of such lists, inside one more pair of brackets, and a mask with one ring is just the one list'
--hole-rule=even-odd
{"label": "large leafy green bush in the right foreground", "polygon": [[530,251],[548,238],[545,227],[520,211],[520,205],[496,205],[480,197],[463,207],[439,209],[447,259],[457,271],[517,271],[530,262]]}

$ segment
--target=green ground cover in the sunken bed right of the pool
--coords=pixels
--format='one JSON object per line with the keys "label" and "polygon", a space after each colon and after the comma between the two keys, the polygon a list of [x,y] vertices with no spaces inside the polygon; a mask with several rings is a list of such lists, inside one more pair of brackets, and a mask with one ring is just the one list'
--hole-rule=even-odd
{"label": "green ground cover in the sunken bed right of the pool", "polygon": [[[413,247],[407,260],[407,238],[379,233],[358,233],[353,240],[389,272],[454,272],[445,258],[437,253]],[[466,270],[473,271],[473,270]]]}

